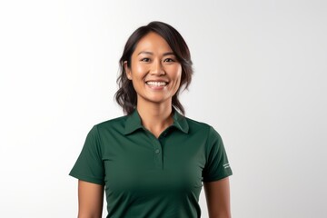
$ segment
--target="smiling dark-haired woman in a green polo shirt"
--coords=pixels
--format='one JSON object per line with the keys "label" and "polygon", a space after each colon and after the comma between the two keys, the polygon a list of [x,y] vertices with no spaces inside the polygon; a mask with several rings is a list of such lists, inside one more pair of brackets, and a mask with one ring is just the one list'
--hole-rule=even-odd
{"label": "smiling dark-haired woman in a green polo shirt", "polygon": [[208,124],[183,116],[178,95],[192,78],[189,49],[171,25],[152,22],[128,39],[116,101],[123,117],[96,124],[70,175],[78,217],[200,217],[204,186],[210,217],[230,217],[223,142]]}

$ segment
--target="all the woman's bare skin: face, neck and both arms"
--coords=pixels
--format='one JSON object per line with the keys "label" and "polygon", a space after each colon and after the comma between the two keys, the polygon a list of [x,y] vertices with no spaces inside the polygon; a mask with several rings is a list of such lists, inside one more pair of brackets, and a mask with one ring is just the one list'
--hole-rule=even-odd
{"label": "all the woman's bare skin: face, neck and both arms", "polygon": [[[182,66],[172,49],[160,35],[150,33],[137,44],[124,68],[127,78],[134,84],[137,93],[137,111],[142,124],[154,136],[159,135],[171,124],[172,98],[181,84]],[[149,82],[164,82],[163,86]],[[210,218],[230,218],[229,179],[203,183]],[[104,186],[79,181],[79,218],[100,218],[104,203]]]}

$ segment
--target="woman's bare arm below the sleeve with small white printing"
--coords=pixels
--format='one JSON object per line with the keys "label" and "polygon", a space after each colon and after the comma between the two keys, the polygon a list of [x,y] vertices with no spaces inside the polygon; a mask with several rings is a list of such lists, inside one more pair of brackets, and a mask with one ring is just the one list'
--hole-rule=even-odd
{"label": "woman's bare arm below the sleeve with small white printing", "polygon": [[203,183],[210,218],[231,218],[229,178]]}

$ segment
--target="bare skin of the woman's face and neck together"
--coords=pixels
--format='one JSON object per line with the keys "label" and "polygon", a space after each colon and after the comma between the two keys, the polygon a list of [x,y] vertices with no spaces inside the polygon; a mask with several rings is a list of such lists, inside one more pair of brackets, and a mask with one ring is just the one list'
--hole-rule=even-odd
{"label": "bare skin of the woman's face and neck together", "polygon": [[[158,137],[173,124],[172,98],[181,84],[182,65],[160,35],[150,33],[137,44],[131,67],[124,63],[127,78],[137,93],[137,111],[145,128]],[[164,86],[148,82],[167,82]]]}

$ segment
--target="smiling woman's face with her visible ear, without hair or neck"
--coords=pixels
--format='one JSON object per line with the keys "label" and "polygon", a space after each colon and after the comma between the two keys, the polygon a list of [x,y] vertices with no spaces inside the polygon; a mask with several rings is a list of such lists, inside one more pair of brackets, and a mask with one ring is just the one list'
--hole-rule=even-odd
{"label": "smiling woman's face with her visible ear, without hair or neck", "polygon": [[145,35],[136,45],[131,66],[125,62],[124,68],[137,93],[137,104],[171,104],[181,84],[182,65],[162,36]]}

